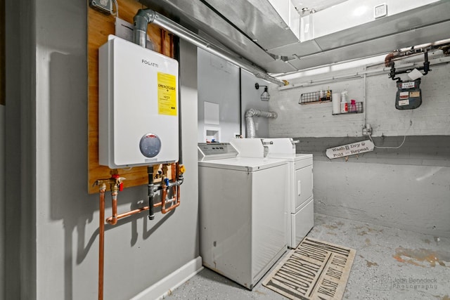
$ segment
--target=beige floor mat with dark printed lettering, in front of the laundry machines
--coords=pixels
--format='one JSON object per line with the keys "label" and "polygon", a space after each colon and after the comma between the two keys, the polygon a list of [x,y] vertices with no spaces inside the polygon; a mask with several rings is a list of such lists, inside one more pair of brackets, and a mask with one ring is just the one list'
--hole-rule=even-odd
{"label": "beige floor mat with dark printed lettering, in front of the laundry machines", "polygon": [[305,237],[262,285],[289,299],[342,299],[356,250]]}

